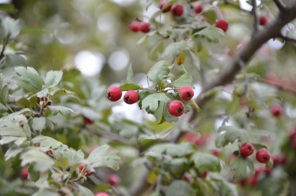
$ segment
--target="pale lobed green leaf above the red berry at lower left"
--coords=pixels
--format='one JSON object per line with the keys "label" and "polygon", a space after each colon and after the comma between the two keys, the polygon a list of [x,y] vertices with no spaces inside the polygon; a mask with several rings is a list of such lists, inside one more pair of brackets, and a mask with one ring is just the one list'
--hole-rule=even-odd
{"label": "pale lobed green leaf above the red berry at lower left", "polygon": [[102,145],[96,150],[93,150],[87,158],[93,168],[110,167],[114,170],[119,169],[119,165],[115,160],[119,160],[118,150],[108,152],[110,146]]}

